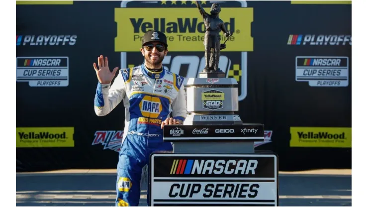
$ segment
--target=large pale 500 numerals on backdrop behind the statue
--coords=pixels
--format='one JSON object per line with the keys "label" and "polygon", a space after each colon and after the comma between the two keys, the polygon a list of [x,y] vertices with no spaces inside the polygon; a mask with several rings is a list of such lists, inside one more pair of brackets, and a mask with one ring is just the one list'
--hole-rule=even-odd
{"label": "large pale 500 numerals on backdrop behind the statue", "polygon": [[[221,55],[218,66],[219,68],[228,68],[228,65],[230,63],[231,62],[227,56]],[[165,56],[162,64],[164,65],[165,69],[176,74],[182,74],[180,69],[182,68],[182,65],[185,65],[185,68],[187,68],[187,70],[186,75],[184,74],[184,78],[193,78],[197,77],[197,74],[203,70],[205,65],[205,58],[203,56],[198,57],[196,55],[168,55]]]}

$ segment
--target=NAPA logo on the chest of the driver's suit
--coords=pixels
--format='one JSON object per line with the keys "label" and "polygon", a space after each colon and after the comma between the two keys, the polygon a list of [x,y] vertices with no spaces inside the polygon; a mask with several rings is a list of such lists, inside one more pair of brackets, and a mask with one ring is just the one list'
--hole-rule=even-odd
{"label": "NAPA logo on the chest of the driver's suit", "polygon": [[142,115],[150,118],[157,118],[162,110],[161,101],[158,97],[143,97],[139,107]]}

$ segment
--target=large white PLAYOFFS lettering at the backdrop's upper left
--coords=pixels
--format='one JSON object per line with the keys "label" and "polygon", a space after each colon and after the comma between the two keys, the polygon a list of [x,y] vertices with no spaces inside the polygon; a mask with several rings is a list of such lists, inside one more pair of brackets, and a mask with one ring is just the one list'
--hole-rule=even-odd
{"label": "large white PLAYOFFS lettering at the backdrop's upper left", "polygon": [[74,45],[76,42],[77,35],[25,35],[23,45]]}

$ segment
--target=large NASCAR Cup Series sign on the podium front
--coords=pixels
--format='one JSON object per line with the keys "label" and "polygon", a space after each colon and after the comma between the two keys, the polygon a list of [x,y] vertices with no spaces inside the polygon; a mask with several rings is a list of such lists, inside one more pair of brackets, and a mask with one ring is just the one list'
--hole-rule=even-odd
{"label": "large NASCAR Cup Series sign on the podium front", "polygon": [[151,206],[278,206],[275,154],[151,156]]}

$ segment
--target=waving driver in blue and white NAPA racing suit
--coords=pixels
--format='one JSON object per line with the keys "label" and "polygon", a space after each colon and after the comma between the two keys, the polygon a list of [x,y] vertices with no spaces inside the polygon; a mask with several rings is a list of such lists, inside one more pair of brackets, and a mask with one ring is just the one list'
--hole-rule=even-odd
{"label": "waving driver in blue and white NAPA racing suit", "polygon": [[[107,57],[98,57],[98,84],[94,110],[98,116],[111,112],[121,101],[125,107],[124,139],[117,164],[116,206],[138,206],[142,168],[154,151],[172,151],[163,142],[163,125],[183,124],[186,117],[184,78],[165,70],[162,60],[168,45],[164,33],[147,32],[142,39],[145,61],[134,68],[110,72]],[[173,117],[170,117],[172,112]],[[149,198],[147,197],[147,201]]]}

